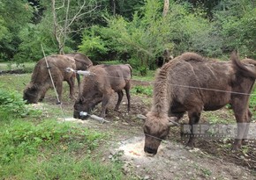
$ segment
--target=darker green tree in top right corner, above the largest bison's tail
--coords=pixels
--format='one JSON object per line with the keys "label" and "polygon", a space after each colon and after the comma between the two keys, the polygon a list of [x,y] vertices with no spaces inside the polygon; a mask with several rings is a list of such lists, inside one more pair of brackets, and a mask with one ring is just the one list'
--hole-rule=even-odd
{"label": "darker green tree in top right corner, above the largest bison's tail", "polygon": [[215,21],[222,35],[224,53],[237,49],[239,54],[256,58],[256,2],[223,0]]}

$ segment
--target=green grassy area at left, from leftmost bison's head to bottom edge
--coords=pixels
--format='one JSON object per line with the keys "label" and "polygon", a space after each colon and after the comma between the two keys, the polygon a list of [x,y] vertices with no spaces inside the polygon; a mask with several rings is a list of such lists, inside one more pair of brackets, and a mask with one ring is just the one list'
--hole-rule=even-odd
{"label": "green grassy area at left, from leftmost bison's head to bottom edge", "polygon": [[[102,162],[108,133],[59,123],[22,100],[30,75],[0,76],[0,179],[129,179],[121,162]],[[49,92],[52,93],[52,92]]]}

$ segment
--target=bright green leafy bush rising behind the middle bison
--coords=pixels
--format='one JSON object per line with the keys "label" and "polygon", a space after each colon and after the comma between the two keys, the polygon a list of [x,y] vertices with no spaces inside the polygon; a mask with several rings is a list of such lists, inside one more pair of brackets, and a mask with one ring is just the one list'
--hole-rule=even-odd
{"label": "bright green leafy bush rising behind the middle bison", "polygon": [[87,48],[92,44],[88,40],[94,40],[108,49],[101,53],[129,54],[130,63],[134,67],[147,68],[154,64],[155,58],[165,49],[172,48],[167,38],[168,26],[162,21],[160,2],[148,0],[144,8],[133,15],[132,21],[116,16],[107,18],[107,22],[108,27],[93,27],[94,33],[88,31],[84,33],[83,43],[79,47],[80,51],[87,49],[86,54],[96,55],[97,50],[92,52],[90,48]]}

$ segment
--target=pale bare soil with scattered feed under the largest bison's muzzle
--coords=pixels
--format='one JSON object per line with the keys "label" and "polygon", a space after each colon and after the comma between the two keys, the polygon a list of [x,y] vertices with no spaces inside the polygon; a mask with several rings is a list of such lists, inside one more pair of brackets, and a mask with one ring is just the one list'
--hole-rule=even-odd
{"label": "pale bare soil with scattered feed under the largest bison's muzzle", "polygon": [[142,179],[253,179],[249,169],[195,148],[186,150],[180,143],[166,141],[159,152],[143,152],[144,137],[124,140],[117,152],[123,152],[124,172]]}

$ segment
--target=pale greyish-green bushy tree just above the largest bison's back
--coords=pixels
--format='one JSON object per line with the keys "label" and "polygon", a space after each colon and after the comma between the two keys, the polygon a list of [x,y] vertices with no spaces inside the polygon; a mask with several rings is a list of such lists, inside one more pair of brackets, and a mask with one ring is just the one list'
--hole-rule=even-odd
{"label": "pale greyish-green bushy tree just above the largest bison's back", "polygon": [[222,54],[222,40],[215,23],[205,18],[206,12],[192,9],[191,4],[172,4],[167,15],[169,39],[175,44],[175,56],[193,51],[208,56]]}

